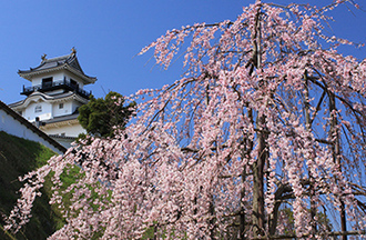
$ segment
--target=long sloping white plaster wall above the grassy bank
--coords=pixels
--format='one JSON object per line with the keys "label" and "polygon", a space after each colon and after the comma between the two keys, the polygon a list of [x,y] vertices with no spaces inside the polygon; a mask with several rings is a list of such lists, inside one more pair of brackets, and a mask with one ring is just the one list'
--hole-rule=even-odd
{"label": "long sloping white plaster wall above the grassy bank", "polygon": [[17,136],[19,138],[24,138],[31,141],[40,142],[41,144],[52,149],[54,152],[62,154],[60,150],[54,148],[48,141],[39,137],[37,133],[28,129],[26,126],[21,124],[19,121],[9,116],[6,111],[0,109],[0,131],[4,131],[9,134]]}

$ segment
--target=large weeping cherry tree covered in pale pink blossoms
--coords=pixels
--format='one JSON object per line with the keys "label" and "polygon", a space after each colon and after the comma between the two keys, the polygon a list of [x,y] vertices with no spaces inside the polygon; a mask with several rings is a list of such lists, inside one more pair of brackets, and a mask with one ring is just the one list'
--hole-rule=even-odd
{"label": "large weeping cherry tree covered in pale pink blossoms", "polygon": [[365,229],[366,61],[340,54],[349,42],[324,31],[325,12],[344,2],[257,1],[235,21],[167,31],[141,53],[154,48],[167,68],[183,51],[185,74],[130,97],[136,117],[115,137],[90,137],[29,173],[8,227],[27,222],[52,172],[51,203],[67,223],[50,239]]}

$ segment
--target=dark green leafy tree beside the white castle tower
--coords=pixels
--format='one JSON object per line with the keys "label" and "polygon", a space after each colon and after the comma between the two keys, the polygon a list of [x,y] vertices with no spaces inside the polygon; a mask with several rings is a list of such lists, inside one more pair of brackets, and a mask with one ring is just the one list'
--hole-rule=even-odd
{"label": "dark green leafy tree beside the white castle tower", "polygon": [[112,137],[114,127],[123,129],[134,109],[135,102],[124,107],[123,96],[111,91],[104,99],[91,96],[88,104],[79,108],[78,120],[91,136]]}

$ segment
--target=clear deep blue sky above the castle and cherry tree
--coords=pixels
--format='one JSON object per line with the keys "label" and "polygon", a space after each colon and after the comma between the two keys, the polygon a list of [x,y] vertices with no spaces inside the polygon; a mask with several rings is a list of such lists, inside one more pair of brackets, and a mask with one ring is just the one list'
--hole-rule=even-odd
{"label": "clear deep blue sky above the castle and cherry tree", "polygon": [[[296,0],[324,4],[333,0]],[[366,10],[365,0],[356,0]],[[37,67],[48,58],[69,54],[75,47],[84,72],[96,77],[95,97],[104,91],[124,96],[141,88],[159,88],[180,77],[181,62],[164,71],[149,61],[152,52],[139,51],[165,33],[195,22],[235,19],[243,6],[255,0],[1,0],[0,8],[0,100],[11,103],[23,99],[22,86],[30,82],[17,71]],[[264,1],[270,2],[270,1]],[[289,3],[293,1],[274,0]],[[332,34],[366,42],[366,12],[336,10]],[[345,53],[366,57],[366,49],[345,49]],[[104,89],[104,90],[103,90]]]}

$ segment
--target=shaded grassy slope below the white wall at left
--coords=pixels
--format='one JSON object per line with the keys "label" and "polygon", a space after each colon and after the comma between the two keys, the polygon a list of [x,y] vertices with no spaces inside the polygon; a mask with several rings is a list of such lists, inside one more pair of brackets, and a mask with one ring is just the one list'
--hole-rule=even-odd
{"label": "shaded grassy slope below the white wall at left", "polygon": [[[44,146],[0,131],[0,214],[9,214],[19,194],[22,183],[19,176],[34,170],[55,153]],[[0,218],[0,239],[45,239],[62,226],[60,213],[49,206],[50,183],[45,183],[43,194],[34,202],[31,221],[14,238],[3,231]]]}

